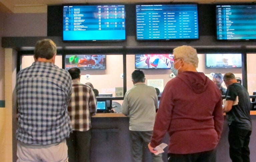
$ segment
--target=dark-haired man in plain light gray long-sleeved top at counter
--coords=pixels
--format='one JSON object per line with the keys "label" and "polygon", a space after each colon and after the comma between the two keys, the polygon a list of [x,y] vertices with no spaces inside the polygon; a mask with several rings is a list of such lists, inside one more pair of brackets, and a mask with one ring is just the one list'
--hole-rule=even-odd
{"label": "dark-haired man in plain light gray long-sleeved top at counter", "polygon": [[[152,136],[158,98],[156,89],[145,84],[143,71],[135,70],[132,73],[132,82],[134,87],[125,93],[121,109],[122,113],[130,119],[133,161],[141,162],[143,147],[147,146]],[[162,154],[152,154],[152,161],[162,162]]]}

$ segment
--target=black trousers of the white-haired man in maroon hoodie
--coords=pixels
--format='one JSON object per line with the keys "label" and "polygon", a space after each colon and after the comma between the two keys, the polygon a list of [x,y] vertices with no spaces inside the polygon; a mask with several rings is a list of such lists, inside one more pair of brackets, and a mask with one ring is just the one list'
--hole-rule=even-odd
{"label": "black trousers of the white-haired man in maroon hoodie", "polygon": [[216,162],[216,149],[193,154],[168,154],[168,162]]}

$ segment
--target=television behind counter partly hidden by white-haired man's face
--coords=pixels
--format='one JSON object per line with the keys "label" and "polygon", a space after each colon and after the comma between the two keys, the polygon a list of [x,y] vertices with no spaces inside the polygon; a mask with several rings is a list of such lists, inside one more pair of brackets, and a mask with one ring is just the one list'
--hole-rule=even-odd
{"label": "television behind counter partly hidden by white-haired man's face", "polygon": [[135,69],[170,69],[172,54],[137,54]]}

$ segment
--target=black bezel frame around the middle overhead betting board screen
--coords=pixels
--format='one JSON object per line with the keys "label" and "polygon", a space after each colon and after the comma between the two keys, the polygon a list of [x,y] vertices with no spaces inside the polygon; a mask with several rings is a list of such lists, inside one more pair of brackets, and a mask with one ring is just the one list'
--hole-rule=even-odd
{"label": "black bezel frame around the middle overhead betting board screen", "polygon": [[[197,33],[198,38],[182,38],[182,39],[137,39],[137,19],[136,19],[136,6],[137,5],[196,5],[197,7]],[[135,13],[135,40],[138,42],[147,42],[147,41],[190,41],[190,40],[199,40],[200,33],[199,33],[199,14],[198,14],[198,3],[136,3],[134,6],[134,13]]]}

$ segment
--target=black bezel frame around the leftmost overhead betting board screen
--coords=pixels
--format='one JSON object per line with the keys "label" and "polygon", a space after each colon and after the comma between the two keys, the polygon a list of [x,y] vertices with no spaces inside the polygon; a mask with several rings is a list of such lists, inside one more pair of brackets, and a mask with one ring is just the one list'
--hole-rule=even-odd
{"label": "black bezel frame around the leftmost overhead betting board screen", "polygon": [[[98,6],[98,5],[123,5],[125,13],[125,35],[124,39],[91,39],[91,40],[64,40],[64,6]],[[90,4],[62,4],[62,41],[63,42],[124,42],[127,39],[127,29],[126,29],[126,6],[124,3],[90,3]],[[114,30],[113,30],[114,31]]]}

